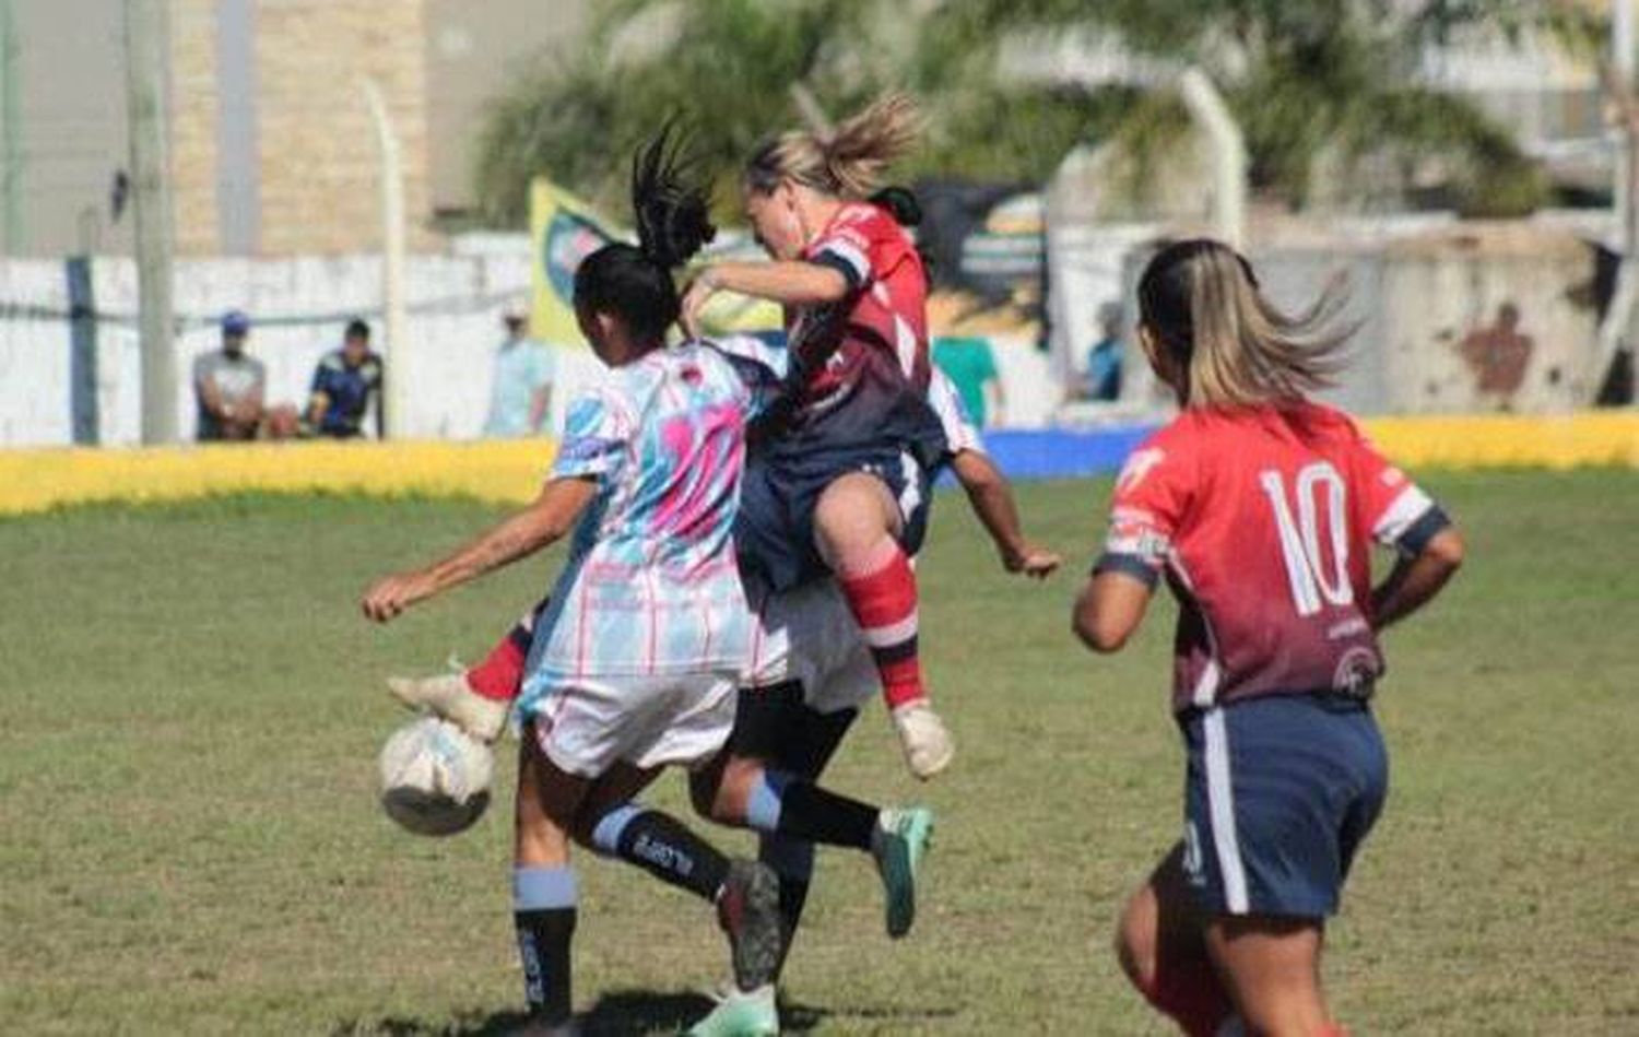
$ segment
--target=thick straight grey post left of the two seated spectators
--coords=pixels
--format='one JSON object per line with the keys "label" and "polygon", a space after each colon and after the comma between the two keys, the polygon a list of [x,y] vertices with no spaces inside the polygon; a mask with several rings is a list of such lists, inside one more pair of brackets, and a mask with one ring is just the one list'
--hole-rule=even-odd
{"label": "thick straight grey post left of the two seated spectators", "polygon": [[126,93],[131,110],[131,210],[143,344],[143,442],[177,441],[175,323],[170,311],[170,162],[166,105],[170,29],[166,0],[126,0]]}

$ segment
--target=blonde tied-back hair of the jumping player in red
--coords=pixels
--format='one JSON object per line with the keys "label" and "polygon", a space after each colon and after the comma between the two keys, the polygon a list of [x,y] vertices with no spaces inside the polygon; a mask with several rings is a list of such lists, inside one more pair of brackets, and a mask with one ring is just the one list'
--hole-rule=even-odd
{"label": "blonde tied-back hair of the jumping player in red", "polygon": [[780,180],[795,180],[836,198],[869,198],[919,134],[916,102],[887,93],[831,133],[792,131],[764,141],[746,164],[746,187],[769,193]]}

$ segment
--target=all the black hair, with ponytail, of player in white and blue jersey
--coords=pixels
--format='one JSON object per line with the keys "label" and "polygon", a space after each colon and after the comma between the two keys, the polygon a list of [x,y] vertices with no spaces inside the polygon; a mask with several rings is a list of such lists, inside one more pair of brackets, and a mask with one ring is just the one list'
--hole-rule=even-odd
{"label": "all the black hair, with ponytail, of player in white and blue jersey", "polygon": [[631,161],[638,244],[606,244],[575,270],[575,305],[613,313],[638,339],[661,339],[682,313],[672,269],[716,236],[711,192],[667,125]]}

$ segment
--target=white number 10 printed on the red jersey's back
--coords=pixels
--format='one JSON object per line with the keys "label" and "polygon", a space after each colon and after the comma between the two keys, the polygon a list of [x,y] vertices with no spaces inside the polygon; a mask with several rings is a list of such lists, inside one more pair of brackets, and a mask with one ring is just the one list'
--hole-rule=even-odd
{"label": "white number 10 printed on the red jersey's back", "polygon": [[[1287,578],[1292,583],[1292,605],[1300,616],[1321,611],[1321,600],[1331,605],[1352,605],[1354,586],[1349,583],[1349,531],[1344,526],[1344,483],[1337,470],[1324,460],[1298,470],[1295,493],[1296,519],[1287,496],[1280,472],[1259,473],[1269,505],[1275,511],[1275,529],[1280,534],[1280,555],[1287,562]],[[1331,572],[1321,554],[1321,505],[1324,498],[1326,528],[1331,534]]]}

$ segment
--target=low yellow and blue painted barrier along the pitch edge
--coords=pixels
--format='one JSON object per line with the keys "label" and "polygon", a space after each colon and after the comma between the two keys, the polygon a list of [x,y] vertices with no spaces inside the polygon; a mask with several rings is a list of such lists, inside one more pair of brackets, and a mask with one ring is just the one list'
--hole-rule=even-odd
{"label": "low yellow and blue painted barrier along the pitch edge", "polygon": [[[1377,418],[1365,426],[1408,469],[1639,467],[1639,413],[1629,411]],[[985,439],[1015,480],[1078,478],[1118,470],[1147,432],[1147,426],[1006,429]],[[552,452],[549,439],[0,451],[0,514],[246,491],[516,503],[536,493]]]}

